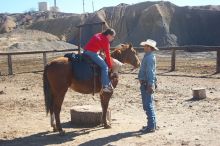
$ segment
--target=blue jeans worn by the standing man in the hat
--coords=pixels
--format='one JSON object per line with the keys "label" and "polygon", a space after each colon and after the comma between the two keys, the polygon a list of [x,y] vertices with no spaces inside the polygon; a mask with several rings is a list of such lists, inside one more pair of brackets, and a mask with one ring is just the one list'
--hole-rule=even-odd
{"label": "blue jeans worn by the standing man in the hat", "polygon": [[156,115],[155,115],[155,109],[154,109],[154,95],[148,93],[146,89],[146,85],[141,85],[141,96],[142,96],[142,103],[143,103],[143,109],[147,115],[147,126],[150,129],[156,128]]}

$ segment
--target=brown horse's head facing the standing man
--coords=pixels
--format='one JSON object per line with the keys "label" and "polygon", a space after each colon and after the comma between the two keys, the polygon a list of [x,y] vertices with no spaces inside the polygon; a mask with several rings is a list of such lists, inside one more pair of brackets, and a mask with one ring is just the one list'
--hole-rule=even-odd
{"label": "brown horse's head facing the standing man", "polygon": [[132,44],[120,44],[112,53],[112,57],[135,68],[140,67],[137,51],[133,48]]}

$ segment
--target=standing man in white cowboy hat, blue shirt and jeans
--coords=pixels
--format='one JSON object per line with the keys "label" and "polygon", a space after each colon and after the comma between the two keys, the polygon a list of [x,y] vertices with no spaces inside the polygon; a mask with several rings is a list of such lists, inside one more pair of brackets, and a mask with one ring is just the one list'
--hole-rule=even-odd
{"label": "standing man in white cowboy hat, blue shirt and jeans", "polygon": [[141,63],[141,68],[138,73],[138,79],[140,81],[141,96],[143,102],[143,109],[147,115],[147,126],[141,129],[143,133],[155,132],[156,129],[156,115],[154,109],[154,87],[156,85],[156,57],[154,51],[159,50],[156,47],[154,40],[148,39],[145,42],[141,42],[141,46],[144,46],[144,58]]}

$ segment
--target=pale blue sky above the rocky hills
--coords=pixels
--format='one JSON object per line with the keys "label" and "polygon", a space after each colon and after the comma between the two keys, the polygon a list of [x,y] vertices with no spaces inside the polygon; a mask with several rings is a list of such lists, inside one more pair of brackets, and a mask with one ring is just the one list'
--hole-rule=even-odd
{"label": "pale blue sky above the rocky hills", "polygon": [[[53,6],[54,0],[1,0],[0,13],[23,13],[30,10],[38,10],[38,2],[47,2]],[[135,4],[147,0],[84,0],[85,12],[93,12],[102,7],[116,6],[120,3]],[[151,0],[158,1],[158,0]],[[220,0],[169,0],[178,6],[220,5]],[[60,11],[67,13],[83,13],[83,0],[57,0]]]}

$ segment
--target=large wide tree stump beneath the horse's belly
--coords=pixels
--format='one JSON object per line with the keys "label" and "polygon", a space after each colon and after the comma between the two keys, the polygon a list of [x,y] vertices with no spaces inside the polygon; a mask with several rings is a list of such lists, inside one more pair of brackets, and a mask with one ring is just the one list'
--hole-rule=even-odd
{"label": "large wide tree stump beneath the horse's belly", "polygon": [[[100,105],[74,106],[70,109],[71,123],[78,126],[97,126],[102,123]],[[107,111],[107,121],[111,124],[111,110]]]}

